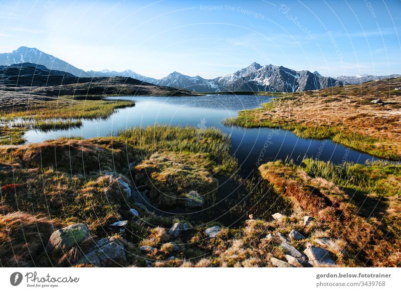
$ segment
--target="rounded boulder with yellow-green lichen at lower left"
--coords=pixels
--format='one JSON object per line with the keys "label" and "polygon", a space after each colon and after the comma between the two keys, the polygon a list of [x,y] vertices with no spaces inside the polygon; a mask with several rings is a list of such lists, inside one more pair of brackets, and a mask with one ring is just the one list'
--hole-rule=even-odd
{"label": "rounded boulder with yellow-green lichen at lower left", "polygon": [[88,225],[84,223],[71,224],[52,233],[46,250],[67,251],[71,247],[79,245],[90,236],[91,233]]}

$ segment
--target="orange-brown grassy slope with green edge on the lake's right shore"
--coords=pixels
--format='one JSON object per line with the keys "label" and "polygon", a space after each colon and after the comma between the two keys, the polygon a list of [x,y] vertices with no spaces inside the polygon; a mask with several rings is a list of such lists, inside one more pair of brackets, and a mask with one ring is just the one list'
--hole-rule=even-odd
{"label": "orange-brown grassy slope with green edge on the lake's right shore", "polygon": [[[390,88],[401,83],[401,78],[391,81]],[[385,85],[385,81],[377,83]],[[364,85],[360,91],[365,94],[362,97],[356,95],[358,86],[282,94],[261,108],[242,110],[237,117],[224,119],[223,124],[282,128],[302,138],[331,139],[357,151],[398,161],[401,159],[398,132],[401,98],[398,94],[391,95],[394,90],[388,89],[386,96],[383,89],[379,91],[380,96],[391,102],[372,104],[370,101],[377,98],[377,86]],[[331,94],[333,91],[337,92]]]}

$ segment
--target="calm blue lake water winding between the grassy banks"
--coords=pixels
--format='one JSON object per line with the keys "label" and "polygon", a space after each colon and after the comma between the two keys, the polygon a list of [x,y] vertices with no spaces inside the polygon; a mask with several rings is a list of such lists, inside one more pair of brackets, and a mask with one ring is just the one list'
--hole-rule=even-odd
{"label": "calm blue lake water winding between the grassy banks", "polygon": [[[119,109],[107,119],[83,120],[80,128],[48,132],[30,130],[25,137],[31,143],[60,136],[106,136],[120,129],[155,123],[190,125],[199,128],[217,127],[231,134],[231,153],[238,158],[244,172],[253,171],[260,164],[278,159],[292,158],[299,162],[304,156],[336,164],[343,161],[364,163],[374,159],[330,140],[303,139],[280,129],[246,129],[222,124],[224,118],[237,116],[239,110],[258,107],[271,98],[254,95],[118,97],[120,100],[135,101],[135,106]],[[116,97],[107,99],[113,100]]]}

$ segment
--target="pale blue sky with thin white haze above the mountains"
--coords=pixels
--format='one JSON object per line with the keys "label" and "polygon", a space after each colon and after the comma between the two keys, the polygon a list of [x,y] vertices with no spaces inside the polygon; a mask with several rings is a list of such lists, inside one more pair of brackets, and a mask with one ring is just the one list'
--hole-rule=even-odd
{"label": "pale blue sky with thin white haze above the mountains", "polygon": [[401,73],[401,2],[1,1],[0,52],[36,47],[84,70],[214,78],[282,65]]}

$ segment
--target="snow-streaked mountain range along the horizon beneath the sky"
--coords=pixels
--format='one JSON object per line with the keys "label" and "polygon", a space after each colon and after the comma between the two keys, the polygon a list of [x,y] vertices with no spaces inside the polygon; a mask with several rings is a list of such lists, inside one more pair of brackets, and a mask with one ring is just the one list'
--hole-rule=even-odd
{"label": "snow-streaked mountain range along the horizon beneath the sky", "polygon": [[20,47],[11,53],[0,54],[0,65],[19,63],[35,63],[46,66],[51,70],[65,71],[78,77],[130,77],[139,81],[175,88],[184,88],[196,92],[224,92],[224,91],[280,91],[296,92],[316,90],[344,84],[359,84],[371,80],[381,80],[401,75],[389,76],[339,76],[325,77],[317,71],[295,71],[283,66],[252,63],[246,68],[234,73],[214,79],[205,79],[200,76],[187,76],[172,72],[168,76],[155,79],[140,75],[132,70],[125,71],[84,71],[71,64],[36,48]]}

